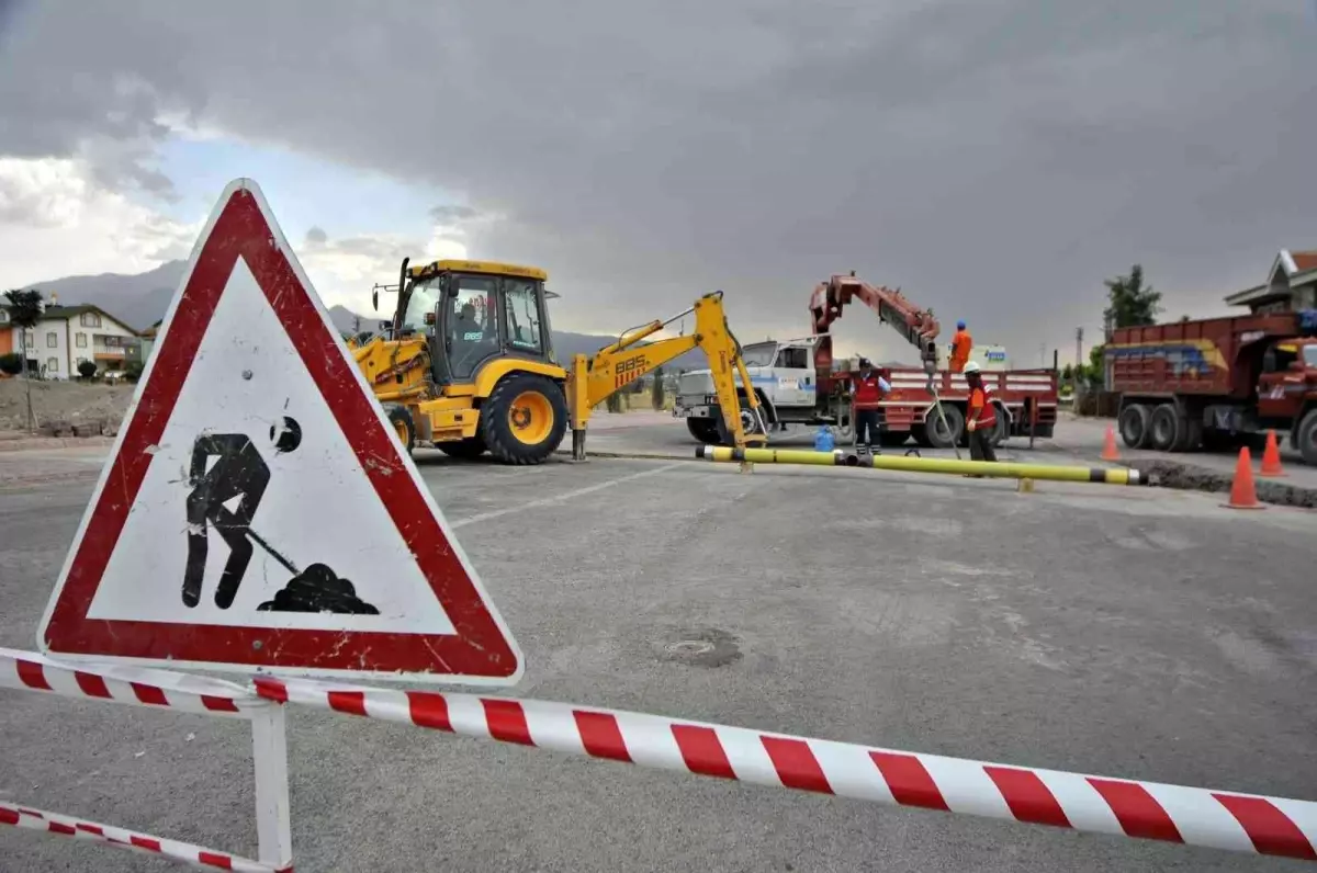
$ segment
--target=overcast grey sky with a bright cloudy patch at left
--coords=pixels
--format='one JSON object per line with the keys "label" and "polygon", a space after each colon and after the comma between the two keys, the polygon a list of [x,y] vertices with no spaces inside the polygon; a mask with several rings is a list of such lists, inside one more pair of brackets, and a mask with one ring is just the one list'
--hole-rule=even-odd
{"label": "overcast grey sky with a bright cloudy patch at left", "polygon": [[4,287],[186,253],[250,175],[361,311],[468,253],[549,270],[560,328],[723,288],[752,340],[855,269],[1035,363],[1134,262],[1179,317],[1317,246],[1312,0],[0,9]]}

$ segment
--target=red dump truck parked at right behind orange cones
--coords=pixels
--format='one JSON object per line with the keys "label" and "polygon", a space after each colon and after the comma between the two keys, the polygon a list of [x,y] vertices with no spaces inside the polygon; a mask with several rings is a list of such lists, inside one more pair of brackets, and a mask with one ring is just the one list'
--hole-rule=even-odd
{"label": "red dump truck parked at right behind orange cones", "polygon": [[1317,466],[1317,311],[1118,328],[1104,365],[1131,449],[1226,448],[1275,429]]}

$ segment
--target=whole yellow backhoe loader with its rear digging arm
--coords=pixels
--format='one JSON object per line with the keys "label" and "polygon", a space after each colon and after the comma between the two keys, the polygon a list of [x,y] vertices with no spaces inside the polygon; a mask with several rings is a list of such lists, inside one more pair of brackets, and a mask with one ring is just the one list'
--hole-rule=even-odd
{"label": "whole yellow backhoe loader with its rear digging arm", "polygon": [[[585,458],[591,410],[645,373],[691,349],[702,349],[718,391],[724,442],[744,448],[766,441],[764,417],[740,344],[727,327],[722,291],[666,321],[623,333],[616,342],[569,367],[553,354],[544,287],[537,267],[490,261],[436,261],[408,266],[404,259],[392,321],[352,354],[385,407],[398,438],[411,452],[433,445],[453,457],[486,450],[503,463],[543,463],[572,428],[572,454]],[[694,313],[689,336],[641,345],[673,321]],[[743,415],[738,415],[743,411]],[[744,423],[752,427],[749,433]]]}

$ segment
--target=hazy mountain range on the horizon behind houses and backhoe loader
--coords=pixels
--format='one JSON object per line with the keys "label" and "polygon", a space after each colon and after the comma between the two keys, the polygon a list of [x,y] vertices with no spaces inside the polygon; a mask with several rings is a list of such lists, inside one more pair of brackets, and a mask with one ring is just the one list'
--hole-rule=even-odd
{"label": "hazy mountain range on the horizon behind houses and backhoe loader", "polygon": [[[90,303],[125,323],[134,331],[145,331],[165,317],[169,303],[183,280],[186,261],[169,261],[136,275],[105,273],[101,275],[74,275],[49,282],[37,282],[29,287],[42,292],[47,302],[58,299],[61,305]],[[374,331],[379,325],[378,316],[358,315],[346,307],[329,308],[329,319],[342,333],[354,331]],[[618,337],[553,332],[553,350],[560,361],[570,361],[574,354],[590,354],[615,342]],[[706,367],[709,362],[699,352],[687,352],[668,365],[669,369],[690,370]]]}

